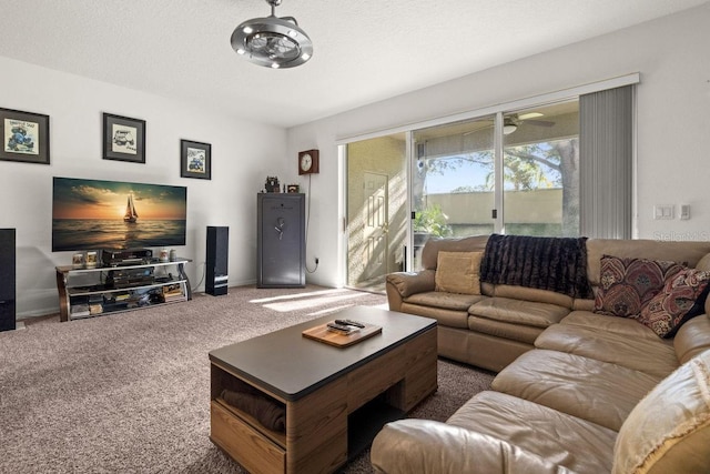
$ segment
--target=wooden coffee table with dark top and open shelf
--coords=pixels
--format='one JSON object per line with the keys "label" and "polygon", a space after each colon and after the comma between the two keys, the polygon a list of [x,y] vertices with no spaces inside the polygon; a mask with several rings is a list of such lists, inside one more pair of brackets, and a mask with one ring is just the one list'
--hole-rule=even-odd
{"label": "wooden coffee table with dark top and open shelf", "polygon": [[[382,326],[337,347],[302,335],[335,319]],[[250,472],[333,472],[366,447],[384,423],[437,389],[436,321],[349,307],[210,352],[214,444]],[[227,404],[223,390],[258,391],[285,410],[285,432]]]}

